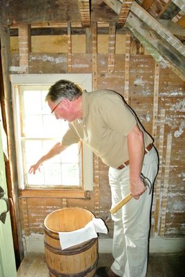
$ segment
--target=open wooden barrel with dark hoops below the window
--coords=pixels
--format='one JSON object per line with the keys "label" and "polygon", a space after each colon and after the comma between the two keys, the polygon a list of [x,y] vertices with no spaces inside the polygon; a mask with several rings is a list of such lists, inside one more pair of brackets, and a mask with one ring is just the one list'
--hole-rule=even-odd
{"label": "open wooden barrel with dark hoops below the window", "polygon": [[92,277],[97,269],[97,238],[61,250],[59,232],[83,228],[93,220],[84,208],[62,208],[44,220],[44,251],[51,277]]}

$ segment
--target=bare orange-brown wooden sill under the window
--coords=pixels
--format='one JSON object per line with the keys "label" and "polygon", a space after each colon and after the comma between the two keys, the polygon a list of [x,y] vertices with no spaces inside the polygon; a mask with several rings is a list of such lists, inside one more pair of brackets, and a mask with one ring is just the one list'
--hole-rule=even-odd
{"label": "bare orange-brown wooden sill under the window", "polygon": [[25,189],[19,190],[19,196],[25,198],[87,198],[86,190],[45,190]]}

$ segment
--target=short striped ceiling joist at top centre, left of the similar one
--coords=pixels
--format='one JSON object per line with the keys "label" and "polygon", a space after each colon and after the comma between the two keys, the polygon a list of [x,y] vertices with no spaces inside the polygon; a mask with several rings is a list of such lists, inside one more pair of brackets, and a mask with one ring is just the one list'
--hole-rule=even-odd
{"label": "short striped ceiling joist at top centre, left of the similar one", "polygon": [[90,5],[89,0],[78,0],[79,13],[81,17],[81,25],[90,27]]}

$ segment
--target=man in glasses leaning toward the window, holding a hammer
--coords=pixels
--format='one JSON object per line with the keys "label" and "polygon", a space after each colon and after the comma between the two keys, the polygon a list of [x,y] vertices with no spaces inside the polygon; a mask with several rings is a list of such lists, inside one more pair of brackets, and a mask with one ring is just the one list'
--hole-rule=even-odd
{"label": "man in glasses leaning toward the window, holding a hammer", "polygon": [[112,218],[114,221],[113,257],[110,269],[97,269],[97,276],[144,277],[148,257],[148,234],[152,195],[141,172],[153,184],[158,158],[153,139],[144,130],[137,116],[124,99],[110,90],[81,91],[68,80],[56,82],[46,96],[57,119],[68,120],[69,128],[46,155],[29,172],[65,150],[79,139],[84,141],[109,166],[112,206],[128,193],[133,195]]}

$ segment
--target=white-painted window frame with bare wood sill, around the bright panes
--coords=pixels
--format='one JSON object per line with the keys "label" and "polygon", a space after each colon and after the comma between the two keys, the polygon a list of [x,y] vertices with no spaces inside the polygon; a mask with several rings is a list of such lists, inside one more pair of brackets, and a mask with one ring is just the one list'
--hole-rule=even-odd
{"label": "white-painted window frame with bare wood sill, around the bright panes", "polygon": [[[82,172],[83,172],[83,184],[82,188],[24,188],[23,181],[23,159],[20,155],[20,145],[18,143],[17,128],[17,111],[16,107],[16,90],[19,86],[27,85],[45,85],[50,86],[58,80],[65,79],[71,80],[80,84],[81,89],[87,91],[92,90],[92,75],[91,74],[19,74],[10,75],[10,81],[12,83],[12,104],[14,113],[14,130],[16,140],[16,153],[17,153],[17,173],[19,179],[19,189],[21,197],[66,197],[66,198],[84,198],[87,196],[88,190],[93,190],[93,152],[86,145],[83,145],[83,158],[82,158]],[[19,132],[19,130],[18,130]]]}

